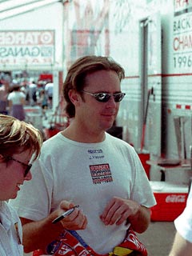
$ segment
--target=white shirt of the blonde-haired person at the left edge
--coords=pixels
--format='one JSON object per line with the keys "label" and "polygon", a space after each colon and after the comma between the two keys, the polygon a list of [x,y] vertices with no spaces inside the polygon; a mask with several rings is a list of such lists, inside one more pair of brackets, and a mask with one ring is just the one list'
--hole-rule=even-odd
{"label": "white shirt of the blonde-haired person at the left edge", "polygon": [[0,255],[22,256],[22,225],[15,210],[0,201]]}

